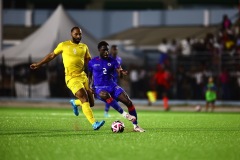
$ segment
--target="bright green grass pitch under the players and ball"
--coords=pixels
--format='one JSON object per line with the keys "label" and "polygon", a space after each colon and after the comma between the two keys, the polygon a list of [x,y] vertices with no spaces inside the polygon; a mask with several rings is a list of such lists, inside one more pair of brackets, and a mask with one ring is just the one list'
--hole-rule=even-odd
{"label": "bright green grass pitch under the players and ball", "polygon": [[[145,133],[114,110],[105,125],[94,131],[83,114],[69,109],[0,108],[1,160],[15,159],[239,159],[238,113],[139,111]],[[112,133],[115,120],[125,123],[123,133]]]}

